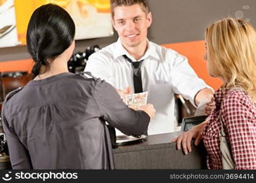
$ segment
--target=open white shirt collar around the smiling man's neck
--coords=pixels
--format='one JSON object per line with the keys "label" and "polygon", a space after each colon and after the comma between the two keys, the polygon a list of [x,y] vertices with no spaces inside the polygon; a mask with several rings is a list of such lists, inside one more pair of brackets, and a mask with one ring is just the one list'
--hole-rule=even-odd
{"label": "open white shirt collar around the smiling man's neck", "polygon": [[[156,52],[156,46],[154,46],[154,44],[149,40],[147,40],[147,42],[148,42],[148,49],[145,52],[144,56],[141,57],[140,60],[147,59],[149,56],[159,60],[159,55]],[[132,59],[133,62],[136,61],[134,57],[130,56],[130,54],[126,51],[124,46],[122,46],[121,40],[120,38],[118,38],[118,41],[116,41],[116,51],[114,52],[113,56],[114,56],[114,59],[117,59],[118,57],[121,57],[123,55],[126,55],[127,57]]]}

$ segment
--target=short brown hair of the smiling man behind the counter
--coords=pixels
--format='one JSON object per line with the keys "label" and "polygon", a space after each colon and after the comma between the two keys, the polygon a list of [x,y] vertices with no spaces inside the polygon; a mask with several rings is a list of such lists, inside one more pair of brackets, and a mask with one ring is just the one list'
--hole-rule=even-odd
{"label": "short brown hair of the smiling man behind the counter", "polygon": [[148,5],[146,4],[145,0],[111,0],[111,15],[112,18],[114,18],[114,10],[116,7],[118,6],[128,6],[128,5],[135,5],[135,4],[139,4],[141,9],[143,10],[143,12],[146,13],[146,15],[148,15],[149,9],[148,9]]}

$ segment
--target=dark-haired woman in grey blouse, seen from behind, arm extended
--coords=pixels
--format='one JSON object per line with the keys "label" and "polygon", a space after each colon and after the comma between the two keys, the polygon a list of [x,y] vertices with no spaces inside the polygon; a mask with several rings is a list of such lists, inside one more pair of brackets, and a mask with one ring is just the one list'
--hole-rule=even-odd
{"label": "dark-haired woman in grey blouse, seen from behind, arm extended", "polygon": [[43,5],[31,16],[34,79],[10,93],[2,110],[13,169],[113,168],[105,121],[140,135],[154,116],[151,104],[129,109],[107,82],[68,72],[74,35],[72,18],[58,5]]}

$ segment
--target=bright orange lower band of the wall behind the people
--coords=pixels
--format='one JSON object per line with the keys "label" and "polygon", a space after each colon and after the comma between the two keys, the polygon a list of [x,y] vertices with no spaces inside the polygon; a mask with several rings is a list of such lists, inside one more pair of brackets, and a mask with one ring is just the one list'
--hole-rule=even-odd
{"label": "bright orange lower band of the wall behind the people", "polygon": [[[205,54],[205,41],[191,41],[184,43],[173,43],[162,45],[166,48],[175,49],[180,54],[184,55],[189,59],[189,64],[198,74],[198,77],[203,79],[206,84],[210,85],[217,90],[222,85],[222,81],[217,78],[210,77],[206,70],[206,60],[203,59]],[[28,60],[15,60],[8,62],[0,62],[0,72],[3,71],[28,71],[31,73],[33,61]]]}

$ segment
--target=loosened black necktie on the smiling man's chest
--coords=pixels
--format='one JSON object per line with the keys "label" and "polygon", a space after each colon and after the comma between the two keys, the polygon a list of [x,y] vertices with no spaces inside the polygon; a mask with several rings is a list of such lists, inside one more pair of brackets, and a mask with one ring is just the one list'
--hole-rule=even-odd
{"label": "loosened black necktie on the smiling man's chest", "polygon": [[132,60],[126,55],[124,55],[123,57],[128,62],[132,63],[132,68],[134,70],[134,93],[143,92],[142,81],[141,81],[141,70],[140,70],[143,60],[140,60],[139,62],[132,62]]}

